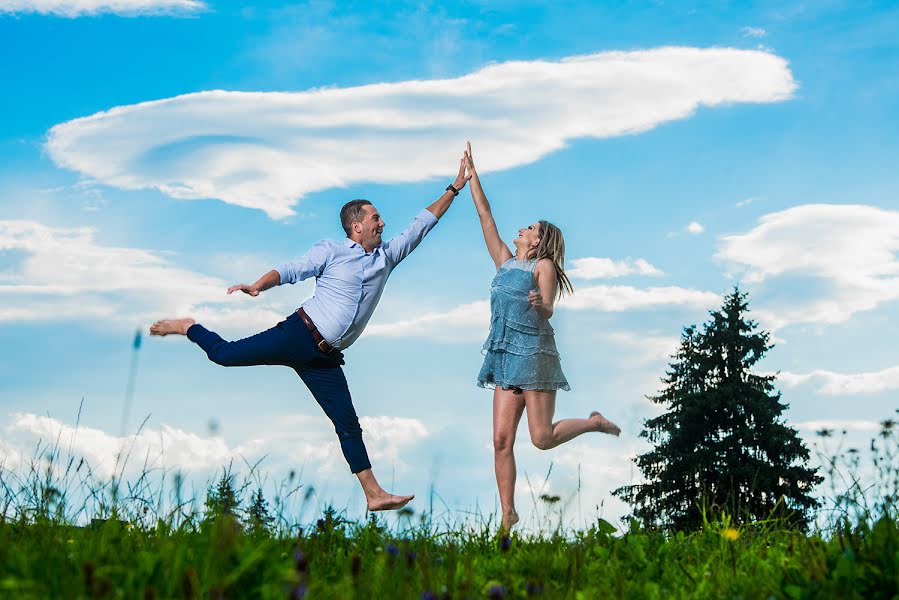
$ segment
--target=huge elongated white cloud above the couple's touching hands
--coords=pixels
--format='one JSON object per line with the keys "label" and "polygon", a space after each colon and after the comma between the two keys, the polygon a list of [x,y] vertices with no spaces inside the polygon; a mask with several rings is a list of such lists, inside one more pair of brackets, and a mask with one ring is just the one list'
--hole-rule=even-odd
{"label": "huge elongated white cloud above the couple's touching hands", "polygon": [[767,52],[665,47],[499,63],[455,79],[186,94],[56,125],[46,149],[99,183],[280,218],[319,190],[445,177],[466,139],[486,173],[577,138],[643,132],[700,106],[782,101],[795,88],[787,62]]}

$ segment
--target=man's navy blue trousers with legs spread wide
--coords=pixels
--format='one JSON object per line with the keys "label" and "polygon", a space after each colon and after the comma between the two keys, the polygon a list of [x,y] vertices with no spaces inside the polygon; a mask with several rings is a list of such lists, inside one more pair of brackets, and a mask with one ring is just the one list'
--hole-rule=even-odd
{"label": "man's navy blue trousers with legs spread wide", "polygon": [[371,468],[365,444],[362,443],[359,418],[353,408],[343,369],[340,368],[343,355],[331,357],[323,354],[299,315],[294,313],[271,329],[236,342],[226,342],[202,325],[191,325],[187,337],[206,352],[209,360],[225,367],[291,367],[334,423],[350,470],[358,473]]}

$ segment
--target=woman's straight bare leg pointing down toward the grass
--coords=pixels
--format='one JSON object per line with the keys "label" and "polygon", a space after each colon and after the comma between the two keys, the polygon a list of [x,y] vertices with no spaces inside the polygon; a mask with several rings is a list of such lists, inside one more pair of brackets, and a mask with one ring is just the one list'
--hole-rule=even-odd
{"label": "woman's straight bare leg pointing down toward the grass", "polygon": [[515,510],[515,433],[524,399],[511,390],[493,390],[493,467],[496,471],[496,487],[502,509],[502,526],[507,530],[518,522]]}

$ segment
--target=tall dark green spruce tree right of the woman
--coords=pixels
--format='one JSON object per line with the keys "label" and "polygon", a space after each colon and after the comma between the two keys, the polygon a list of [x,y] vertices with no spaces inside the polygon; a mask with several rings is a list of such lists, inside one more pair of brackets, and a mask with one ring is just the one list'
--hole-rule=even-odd
{"label": "tall dark green spruce tree right of the woman", "polygon": [[640,434],[655,446],[635,459],[646,483],[613,492],[645,526],[696,529],[704,512],[804,526],[818,506],[810,494],[821,478],[783,423],[775,376],[752,372],[773,346],[748,311],[747,294],[735,288],[701,332],[685,328],[664,387],[650,398],[667,412]]}

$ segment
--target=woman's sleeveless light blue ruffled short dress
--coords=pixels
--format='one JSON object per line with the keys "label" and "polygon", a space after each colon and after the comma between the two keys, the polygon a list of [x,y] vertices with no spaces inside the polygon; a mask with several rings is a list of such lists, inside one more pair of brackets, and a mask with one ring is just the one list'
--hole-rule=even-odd
{"label": "woman's sleeveless light blue ruffled short dress", "polygon": [[478,386],[522,390],[569,390],[552,325],[528,302],[537,289],[537,261],[510,258],[490,285],[490,334]]}

